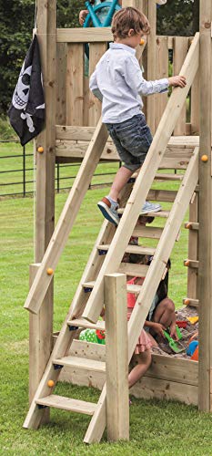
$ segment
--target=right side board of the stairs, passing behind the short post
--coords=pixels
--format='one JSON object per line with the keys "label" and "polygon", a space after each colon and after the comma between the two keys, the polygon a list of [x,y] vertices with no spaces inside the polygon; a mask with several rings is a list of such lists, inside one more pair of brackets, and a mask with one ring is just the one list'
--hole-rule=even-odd
{"label": "right side board of the stairs, passing behind the short post", "polygon": [[[156,294],[156,288],[159,285],[161,277],[166,269],[167,260],[174,247],[177,233],[181,223],[183,223],[183,219],[187,212],[187,207],[192,194],[195,191],[197,181],[198,148],[196,148],[194,155],[188,164],[184,180],[177,192],[177,198],[167,219],[164,232],[157,244],[155,257],[149,266],[146,279],[141,288],[140,294],[137,296],[136,305],[128,323],[128,362],[130,362],[130,359],[132,358],[137,338],[144,326],[146,316],[149,312],[154,295]],[[86,443],[99,441],[105,430],[106,421],[104,425],[103,420],[104,416],[106,417],[106,384],[102,390],[101,404],[98,404],[98,408],[96,409],[86,431],[86,437],[84,440]],[[99,423],[97,423],[97,417],[100,417]],[[100,433],[100,430],[102,431],[102,434]]]}

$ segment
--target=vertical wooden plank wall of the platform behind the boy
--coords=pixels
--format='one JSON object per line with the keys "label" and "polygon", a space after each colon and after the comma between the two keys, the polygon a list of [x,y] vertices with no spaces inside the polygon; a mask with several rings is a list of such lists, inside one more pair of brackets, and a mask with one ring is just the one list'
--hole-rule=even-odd
{"label": "vertical wooden plank wall of the platform behind the boy", "polygon": [[[73,31],[77,31],[77,35]],[[89,75],[100,57],[106,52],[107,42],[112,39],[108,29],[57,29],[57,125],[96,126],[101,113],[100,102],[89,92],[89,78],[85,76],[85,43],[89,40]],[[178,74],[191,44],[187,36],[156,36],[156,78],[167,78],[172,69]],[[173,59],[170,66],[169,60]],[[169,63],[168,63],[169,62]],[[167,106],[167,93],[153,96],[155,99],[155,126],[157,127]],[[151,97],[152,98],[152,97]],[[189,102],[182,109],[174,130],[176,136],[197,134],[199,81],[194,81]],[[189,106],[188,106],[189,105]],[[189,112],[187,113],[187,108]],[[80,139],[79,139],[80,140]]]}

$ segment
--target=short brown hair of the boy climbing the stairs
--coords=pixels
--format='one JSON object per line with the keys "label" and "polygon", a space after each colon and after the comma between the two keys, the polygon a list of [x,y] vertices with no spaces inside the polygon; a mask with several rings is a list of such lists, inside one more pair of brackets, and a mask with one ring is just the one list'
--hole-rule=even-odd
{"label": "short brown hair of the boy climbing the stairs", "polygon": [[114,38],[126,38],[130,29],[135,31],[135,35],[141,31],[148,35],[150,26],[147,17],[138,9],[128,6],[116,12],[112,21],[112,34]]}

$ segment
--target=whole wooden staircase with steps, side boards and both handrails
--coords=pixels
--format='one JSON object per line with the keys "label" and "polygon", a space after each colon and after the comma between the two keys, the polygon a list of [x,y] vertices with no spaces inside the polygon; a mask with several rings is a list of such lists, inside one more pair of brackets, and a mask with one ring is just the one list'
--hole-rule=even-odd
{"label": "whole wooden staircase with steps, side boards and both handrails", "polygon": [[[136,306],[128,323],[129,361],[133,355],[137,337],[144,326],[157,286],[166,273],[167,260],[177,240],[188,204],[197,186],[198,148],[196,147],[191,154],[184,176],[180,176],[180,186],[177,192],[150,190],[152,182],[158,175],[158,169],[167,148],[167,142],[174,130],[183,103],[187,98],[187,92],[196,75],[197,67],[198,34],[194,38],[181,70],[181,74],[187,77],[187,88],[175,89],[169,98],[167,109],[156,131],[145,164],[136,178],[133,190],[131,192],[133,183],[129,183],[123,192],[123,206],[120,211],[122,216],[119,225],[116,228],[106,221],[102,225],[84,275],[76,290],[72,306],[66,316],[64,325],[56,340],[56,346],[26,416],[25,428],[37,429],[42,421],[44,409],[46,407],[54,407],[92,416],[86,431],[84,440],[86,443],[99,441],[102,437],[106,427],[106,385],[102,389],[96,404],[54,395],[54,387],[64,366],[92,368],[99,372],[106,371],[106,365],[101,361],[71,357],[67,356],[67,353],[72,341],[77,337],[79,329],[85,327],[104,329],[104,322],[98,322],[97,320],[104,305],[104,277],[111,273],[125,272],[126,275],[145,277],[142,286],[127,285],[127,292],[137,295]],[[87,150],[85,160],[82,163],[81,171],[79,171],[73,186],[74,190],[72,189],[70,192],[64,211],[57,223],[56,231],[26,299],[25,308],[33,313],[37,313],[40,306],[42,306],[46,290],[52,278],[51,275],[46,274],[46,270],[49,267],[53,270],[56,268],[106,139],[106,130],[99,122],[96,127],[96,133]],[[170,175],[167,176],[167,179],[169,178]],[[163,176],[163,179],[166,180],[166,175]],[[158,193],[156,194],[156,192]],[[150,195],[153,200],[156,197],[158,201],[161,201],[162,198],[162,201],[173,202],[170,211],[161,211],[154,214],[154,216],[163,217],[167,221],[163,229],[161,227],[140,226],[137,223],[140,209],[147,195]],[[129,239],[132,235],[154,238],[158,240],[158,244],[156,248],[130,245]],[[151,254],[153,255],[153,260],[149,266],[127,264],[122,262],[125,253]],[[49,379],[53,380],[53,386],[48,385]]]}

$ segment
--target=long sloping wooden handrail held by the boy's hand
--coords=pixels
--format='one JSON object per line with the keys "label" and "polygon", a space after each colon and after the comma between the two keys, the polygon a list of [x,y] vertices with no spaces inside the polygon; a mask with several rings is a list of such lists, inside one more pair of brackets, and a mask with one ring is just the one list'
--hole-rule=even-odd
{"label": "long sloping wooden handrail held by the boy's hand", "polygon": [[104,294],[104,276],[115,273],[126,250],[130,236],[133,233],[140,208],[146,201],[146,195],[156,176],[156,171],[167,148],[167,142],[174,130],[180,111],[187,98],[188,90],[195,78],[199,58],[199,35],[196,34],[187,58],[181,69],[181,74],[187,78],[186,88],[175,88],[167,102],[162,119],[156,130],[152,144],[148,150],[146,160],[136,178],[133,191],[130,194],[126,209],[117,226],[114,239],[106,254],[106,260],[97,277],[96,285],[88,299],[83,316],[96,323],[101,312],[101,303]]}

